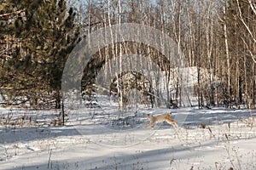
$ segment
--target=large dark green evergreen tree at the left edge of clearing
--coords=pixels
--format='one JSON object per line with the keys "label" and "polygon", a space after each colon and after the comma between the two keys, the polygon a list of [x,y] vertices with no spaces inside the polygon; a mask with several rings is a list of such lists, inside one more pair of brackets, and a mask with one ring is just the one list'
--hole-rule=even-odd
{"label": "large dark green evergreen tree at the left edge of clearing", "polygon": [[1,30],[17,41],[0,75],[2,87],[9,89],[9,102],[54,101],[55,108],[60,108],[62,71],[79,36],[73,8],[67,11],[65,0],[9,0],[5,5],[25,10]]}

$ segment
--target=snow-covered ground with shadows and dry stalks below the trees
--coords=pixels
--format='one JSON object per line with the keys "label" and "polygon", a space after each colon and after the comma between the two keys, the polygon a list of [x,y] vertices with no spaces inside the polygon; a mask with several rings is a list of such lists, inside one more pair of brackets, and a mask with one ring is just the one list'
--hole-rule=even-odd
{"label": "snow-covered ground with shadows and dry stalks below the trees", "polygon": [[[166,111],[177,122],[186,115],[177,130],[165,122],[154,130],[142,127],[147,113]],[[160,108],[114,117],[111,110],[101,115],[87,109],[68,114],[73,117],[62,127],[57,111],[1,108],[0,169],[256,169],[256,111]]]}

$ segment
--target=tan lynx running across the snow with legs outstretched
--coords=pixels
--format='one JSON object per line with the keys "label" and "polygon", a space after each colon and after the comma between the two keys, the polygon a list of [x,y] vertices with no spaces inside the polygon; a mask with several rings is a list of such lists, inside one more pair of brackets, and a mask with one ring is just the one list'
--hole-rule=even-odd
{"label": "tan lynx running across the snow with legs outstretched", "polygon": [[158,116],[153,116],[151,114],[148,114],[147,118],[150,122],[147,125],[143,126],[143,128],[147,128],[147,127],[153,128],[155,123],[164,122],[164,121],[168,122],[170,125],[177,128],[177,122],[171,118],[171,113],[166,113]]}

